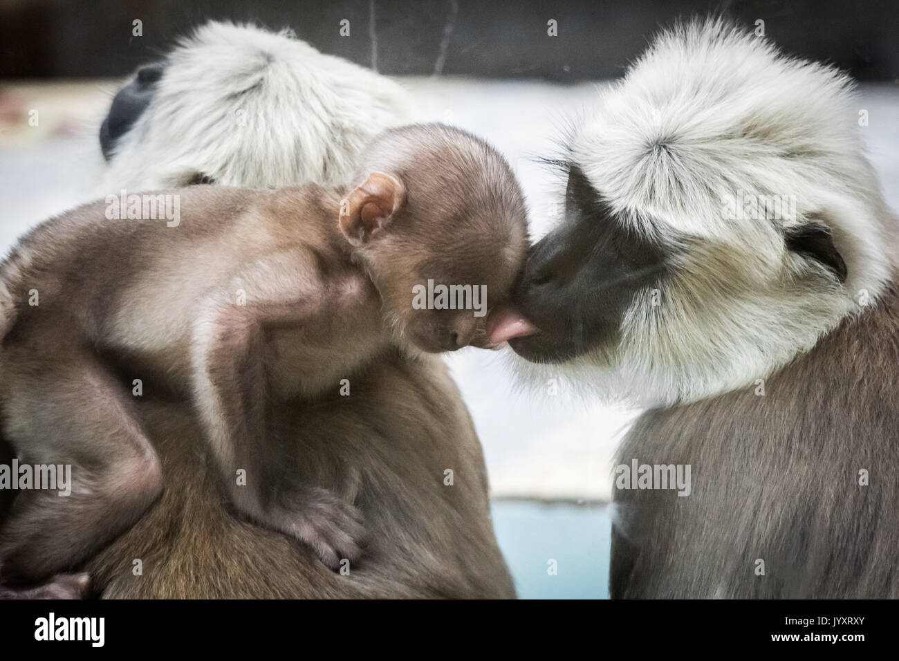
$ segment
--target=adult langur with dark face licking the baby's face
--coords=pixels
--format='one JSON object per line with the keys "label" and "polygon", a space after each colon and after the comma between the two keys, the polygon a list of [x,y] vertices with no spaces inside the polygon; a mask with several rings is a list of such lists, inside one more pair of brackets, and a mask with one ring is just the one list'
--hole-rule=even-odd
{"label": "adult langur with dark face licking the baby's face", "polygon": [[[899,596],[896,219],[851,87],[694,22],[574,130],[565,219],[493,339],[650,406],[613,597]],[[678,465],[686,497],[658,488]]]}

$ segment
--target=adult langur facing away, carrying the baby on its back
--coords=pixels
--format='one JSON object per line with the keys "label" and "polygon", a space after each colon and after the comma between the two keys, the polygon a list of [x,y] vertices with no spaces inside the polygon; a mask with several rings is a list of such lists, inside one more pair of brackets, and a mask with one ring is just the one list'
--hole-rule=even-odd
{"label": "adult langur facing away, carrying the baby on its back", "polygon": [[[287,34],[209,23],[138,69],[114,99],[101,130],[102,194],[340,183],[360,148],[403,123],[407,107],[386,78]],[[93,590],[109,598],[514,597],[481,447],[443,363],[391,354],[348,377],[348,397],[335,388],[315,406],[272,413],[280,442],[315,439],[315,452],[297,448],[303,477],[364,514],[369,544],[348,576],[236,518],[191,407],[145,384],[138,413],[163,460],[165,493],[86,564]],[[131,382],[127,366],[122,378]]]}

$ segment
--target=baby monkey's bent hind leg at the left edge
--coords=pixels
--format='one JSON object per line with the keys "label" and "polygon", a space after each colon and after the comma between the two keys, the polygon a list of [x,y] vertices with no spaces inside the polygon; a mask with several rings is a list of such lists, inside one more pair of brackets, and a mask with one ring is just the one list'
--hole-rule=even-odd
{"label": "baby monkey's bent hind leg at the left edge", "polygon": [[156,451],[111,373],[72,347],[40,359],[32,352],[4,356],[13,375],[6,433],[21,464],[54,465],[57,483],[19,490],[0,529],[4,583],[33,584],[76,567],[128,529],[163,488]]}

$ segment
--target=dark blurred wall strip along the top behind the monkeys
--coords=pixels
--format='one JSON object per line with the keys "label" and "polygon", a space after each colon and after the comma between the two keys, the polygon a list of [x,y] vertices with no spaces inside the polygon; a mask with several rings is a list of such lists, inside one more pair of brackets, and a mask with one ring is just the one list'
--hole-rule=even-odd
{"label": "dark blurred wall strip along the top behind the monkeys", "polygon": [[[0,0],[0,78],[127,74],[210,18],[289,26],[327,53],[389,75],[619,76],[663,23],[725,12],[788,51],[860,80],[899,77],[896,0]],[[129,27],[143,22],[143,35]],[[547,39],[555,20],[558,38]],[[350,22],[349,37],[339,34]]]}

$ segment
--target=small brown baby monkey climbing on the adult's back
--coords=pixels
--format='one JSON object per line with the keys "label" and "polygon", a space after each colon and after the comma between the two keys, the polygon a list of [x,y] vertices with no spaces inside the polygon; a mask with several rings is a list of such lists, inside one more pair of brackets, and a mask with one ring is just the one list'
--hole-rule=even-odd
{"label": "small brown baby monkey climbing on the adult's back", "polygon": [[354,181],[147,193],[179,196],[176,227],[107,219],[95,202],[22,238],[0,271],[4,432],[20,463],[70,464],[72,487],[18,494],[0,531],[2,580],[76,565],[161,493],[133,392],[111,365],[192,397],[240,513],[329,567],[360,555],[357,510],[296,477],[267,406],[334,393],[397,347],[488,345],[483,310],[430,309],[415,292],[485,286],[493,307],[529,243],[511,169],[464,131],[387,131]]}

